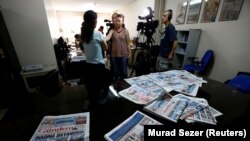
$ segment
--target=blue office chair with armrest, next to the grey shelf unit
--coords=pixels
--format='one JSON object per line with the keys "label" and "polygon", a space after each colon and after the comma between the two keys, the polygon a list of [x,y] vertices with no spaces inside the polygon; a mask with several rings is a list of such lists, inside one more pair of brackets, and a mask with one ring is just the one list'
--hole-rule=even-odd
{"label": "blue office chair with armrest, next to the grey shelf unit", "polygon": [[213,59],[213,56],[214,52],[212,50],[207,50],[201,61],[199,61],[198,57],[189,57],[188,59],[191,61],[191,64],[185,65],[184,70],[204,75],[208,69],[208,65]]}

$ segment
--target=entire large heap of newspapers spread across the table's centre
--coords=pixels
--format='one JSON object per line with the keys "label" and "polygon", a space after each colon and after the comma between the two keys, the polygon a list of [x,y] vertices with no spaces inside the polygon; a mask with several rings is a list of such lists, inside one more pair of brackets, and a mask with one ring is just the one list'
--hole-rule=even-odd
{"label": "entire large heap of newspapers spread across the table's centre", "polygon": [[[199,87],[207,83],[185,70],[151,73],[125,79],[131,87],[119,92],[128,100],[145,105],[144,110],[177,122],[204,122],[216,124],[221,112],[209,106],[203,98],[196,98]],[[178,94],[172,96],[171,91]]]}

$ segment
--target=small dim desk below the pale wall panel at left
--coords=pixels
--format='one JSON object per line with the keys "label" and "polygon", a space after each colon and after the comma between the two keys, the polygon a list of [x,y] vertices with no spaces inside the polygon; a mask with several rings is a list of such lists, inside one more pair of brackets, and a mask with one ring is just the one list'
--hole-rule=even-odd
{"label": "small dim desk below the pale wall panel at left", "polygon": [[39,77],[45,76],[48,72],[55,70],[56,66],[47,66],[47,67],[43,67],[42,70],[38,70],[38,71],[31,71],[31,72],[24,72],[21,71],[21,76],[23,77],[24,80],[24,84],[26,86],[26,89],[28,92],[31,92],[34,88],[37,86],[37,84],[34,84],[35,81],[33,81],[34,83],[32,84],[32,82],[28,82],[28,79],[31,78],[38,78],[36,81],[39,81]]}

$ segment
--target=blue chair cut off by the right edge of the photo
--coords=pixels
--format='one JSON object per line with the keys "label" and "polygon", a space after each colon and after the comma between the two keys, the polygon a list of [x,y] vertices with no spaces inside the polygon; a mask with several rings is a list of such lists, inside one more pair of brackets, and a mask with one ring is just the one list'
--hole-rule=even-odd
{"label": "blue chair cut off by the right edge of the photo", "polygon": [[250,94],[250,73],[248,72],[238,72],[233,79],[227,80],[225,83],[241,93]]}

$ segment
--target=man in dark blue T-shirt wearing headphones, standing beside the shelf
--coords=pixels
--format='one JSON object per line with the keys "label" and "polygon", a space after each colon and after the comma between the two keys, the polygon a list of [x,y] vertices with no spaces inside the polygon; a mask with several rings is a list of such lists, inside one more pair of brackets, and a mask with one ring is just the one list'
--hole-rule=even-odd
{"label": "man in dark blue T-shirt wearing headphones, standing beside the shelf", "polygon": [[160,41],[160,53],[156,62],[157,71],[166,71],[172,67],[174,52],[177,47],[176,30],[171,23],[172,15],[173,11],[171,9],[164,11],[162,15],[165,30]]}

